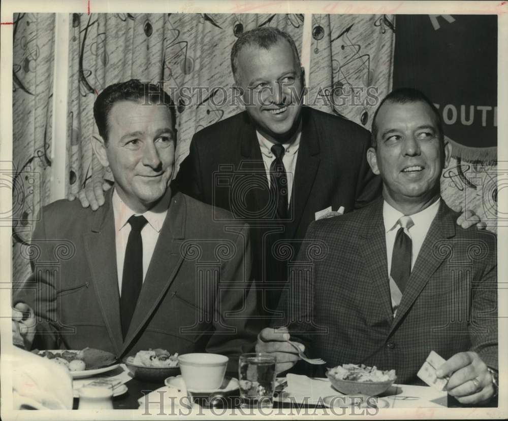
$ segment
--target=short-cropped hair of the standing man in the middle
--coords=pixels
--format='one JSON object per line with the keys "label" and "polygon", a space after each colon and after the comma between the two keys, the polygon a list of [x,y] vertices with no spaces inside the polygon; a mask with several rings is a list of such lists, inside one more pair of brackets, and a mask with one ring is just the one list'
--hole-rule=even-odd
{"label": "short-cropped hair of the standing man in the middle", "polygon": [[295,41],[291,38],[289,33],[277,28],[272,28],[271,26],[254,28],[247,32],[243,32],[240,37],[238,37],[238,40],[236,40],[231,50],[231,70],[233,71],[233,78],[235,78],[235,82],[238,83],[238,54],[240,54],[243,47],[255,46],[268,50],[280,40],[286,40],[289,43],[291,49],[293,50],[295,64],[300,67],[300,55],[298,54],[298,48],[296,48]]}

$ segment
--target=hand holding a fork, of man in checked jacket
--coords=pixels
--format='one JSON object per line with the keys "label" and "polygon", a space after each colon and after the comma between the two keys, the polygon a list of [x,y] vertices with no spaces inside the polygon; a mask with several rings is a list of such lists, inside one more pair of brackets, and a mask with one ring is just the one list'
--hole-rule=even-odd
{"label": "hand holding a fork, of man in checked jacket", "polygon": [[[273,354],[277,359],[275,367],[277,373],[289,370],[300,359],[296,353],[295,347],[288,343],[289,340],[290,334],[288,333],[288,329],[265,328],[258,335],[256,352]],[[302,351],[305,350],[303,344],[298,343],[298,346]]]}

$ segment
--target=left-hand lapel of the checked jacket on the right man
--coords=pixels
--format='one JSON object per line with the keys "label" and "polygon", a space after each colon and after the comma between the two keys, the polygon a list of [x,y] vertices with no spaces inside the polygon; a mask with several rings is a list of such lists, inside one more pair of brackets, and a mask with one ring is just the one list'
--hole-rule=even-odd
{"label": "left-hand lapel of the checked jacket on the right man", "polygon": [[[365,262],[367,273],[370,275],[370,282],[375,291],[379,303],[379,310],[382,319],[392,321],[392,300],[390,296],[390,285],[388,283],[388,265],[386,261],[386,233],[383,221],[383,198],[377,199],[371,206],[368,216],[371,218],[365,221],[364,230],[360,233],[362,242],[360,253],[362,261]],[[367,215],[365,213],[365,215]],[[372,323],[378,323],[379,317],[376,312],[367,311]]]}

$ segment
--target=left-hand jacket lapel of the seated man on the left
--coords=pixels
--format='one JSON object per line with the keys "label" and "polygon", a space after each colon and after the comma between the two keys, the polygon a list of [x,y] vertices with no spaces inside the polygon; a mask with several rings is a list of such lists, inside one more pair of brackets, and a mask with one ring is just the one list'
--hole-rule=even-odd
{"label": "left-hand jacket lapel of the seated man on the left", "polygon": [[84,234],[85,253],[97,299],[111,342],[120,355],[122,333],[116,268],[115,221],[108,192],[105,204],[92,214],[91,231]]}

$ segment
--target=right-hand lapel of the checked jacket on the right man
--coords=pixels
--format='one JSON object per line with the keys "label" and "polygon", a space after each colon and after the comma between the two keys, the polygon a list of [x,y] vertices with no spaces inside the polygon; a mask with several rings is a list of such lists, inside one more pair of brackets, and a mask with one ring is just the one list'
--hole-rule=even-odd
{"label": "right-hand lapel of the checked jacket on the right man", "polygon": [[455,216],[451,209],[441,200],[439,211],[430,225],[429,232],[425,237],[418,258],[411,270],[406,290],[402,295],[396,317],[392,324],[392,331],[402,320],[404,314],[411,308],[412,304],[429,282],[430,277],[446,258],[447,254],[439,253],[439,251],[435,249],[435,246],[444,238],[451,238],[455,235],[454,218]]}

